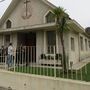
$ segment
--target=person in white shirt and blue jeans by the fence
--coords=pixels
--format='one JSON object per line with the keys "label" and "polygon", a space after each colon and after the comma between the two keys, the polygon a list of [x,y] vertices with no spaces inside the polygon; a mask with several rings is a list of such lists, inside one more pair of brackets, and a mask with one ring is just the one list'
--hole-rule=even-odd
{"label": "person in white shirt and blue jeans by the fence", "polygon": [[9,46],[8,46],[7,64],[8,64],[8,67],[13,65],[13,47],[12,47],[12,43],[10,43]]}

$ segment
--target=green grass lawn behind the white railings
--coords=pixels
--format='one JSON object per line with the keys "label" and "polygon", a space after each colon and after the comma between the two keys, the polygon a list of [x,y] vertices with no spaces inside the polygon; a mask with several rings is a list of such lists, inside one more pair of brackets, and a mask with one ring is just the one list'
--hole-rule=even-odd
{"label": "green grass lawn behind the white railings", "polygon": [[60,77],[74,80],[90,81],[90,63],[81,68],[80,70],[68,70],[67,73],[64,73],[62,69],[30,66],[18,66],[15,68],[15,71],[50,77],[56,76],[58,78]]}

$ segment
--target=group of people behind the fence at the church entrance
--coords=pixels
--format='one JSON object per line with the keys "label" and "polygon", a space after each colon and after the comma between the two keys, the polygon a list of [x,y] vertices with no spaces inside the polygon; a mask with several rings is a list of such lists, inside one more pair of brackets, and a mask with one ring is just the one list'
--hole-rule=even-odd
{"label": "group of people behind the fence at the church entrance", "polygon": [[[32,51],[32,52],[31,52]],[[5,62],[8,65],[8,67],[14,66],[14,60],[17,65],[26,64],[28,65],[30,63],[30,60],[33,59],[33,48],[29,48],[26,46],[20,45],[17,48],[14,48],[12,46],[12,43],[8,45],[7,48],[4,46],[0,49],[0,61]],[[32,55],[31,55],[32,54]]]}

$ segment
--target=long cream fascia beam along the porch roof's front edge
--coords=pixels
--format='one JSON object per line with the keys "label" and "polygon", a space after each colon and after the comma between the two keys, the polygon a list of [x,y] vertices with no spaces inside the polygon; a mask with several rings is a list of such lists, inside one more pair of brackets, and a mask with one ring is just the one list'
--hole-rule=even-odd
{"label": "long cream fascia beam along the porch roof's front edge", "polygon": [[15,28],[9,28],[9,29],[1,29],[0,33],[7,33],[7,32],[20,32],[20,31],[25,31],[26,29],[28,31],[33,30],[39,30],[41,28],[49,28],[49,27],[56,27],[55,23],[47,23],[47,24],[38,24],[38,25],[28,25],[28,26],[21,26],[21,27],[15,27]]}

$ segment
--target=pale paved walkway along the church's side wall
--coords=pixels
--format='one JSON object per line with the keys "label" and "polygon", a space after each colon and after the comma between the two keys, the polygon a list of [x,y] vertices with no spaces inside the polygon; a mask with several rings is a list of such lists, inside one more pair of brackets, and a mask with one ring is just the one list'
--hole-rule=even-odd
{"label": "pale paved walkway along the church's side wall", "polygon": [[87,58],[85,60],[82,60],[82,61],[74,64],[72,68],[78,70],[78,69],[82,68],[83,66],[85,66],[88,63],[90,63],[90,58]]}

